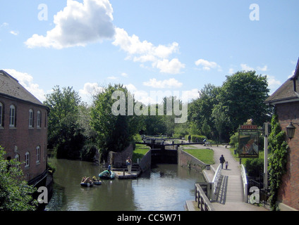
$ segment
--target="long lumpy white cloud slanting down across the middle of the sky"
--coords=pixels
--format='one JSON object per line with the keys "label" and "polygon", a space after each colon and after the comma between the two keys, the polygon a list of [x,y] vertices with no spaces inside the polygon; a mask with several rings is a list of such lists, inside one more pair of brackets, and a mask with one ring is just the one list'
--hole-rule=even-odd
{"label": "long lumpy white cloud slanting down across the middle of the sky", "polygon": [[171,54],[178,52],[176,42],[167,46],[161,44],[154,46],[149,41],[140,41],[135,34],[129,36],[126,30],[116,28],[115,40],[112,44],[128,53],[126,59],[140,63],[152,62],[152,68],[158,68],[160,72],[178,74],[185,68],[178,58],[168,59]]}

